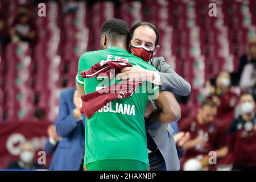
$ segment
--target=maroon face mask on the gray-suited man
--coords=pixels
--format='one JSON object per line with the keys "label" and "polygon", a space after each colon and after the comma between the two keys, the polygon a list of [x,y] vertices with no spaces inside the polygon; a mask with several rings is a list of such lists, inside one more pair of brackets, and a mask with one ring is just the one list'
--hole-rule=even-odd
{"label": "maroon face mask on the gray-suited man", "polygon": [[151,59],[154,51],[150,51],[144,46],[130,46],[129,52],[134,56],[141,57],[141,59],[147,62]]}

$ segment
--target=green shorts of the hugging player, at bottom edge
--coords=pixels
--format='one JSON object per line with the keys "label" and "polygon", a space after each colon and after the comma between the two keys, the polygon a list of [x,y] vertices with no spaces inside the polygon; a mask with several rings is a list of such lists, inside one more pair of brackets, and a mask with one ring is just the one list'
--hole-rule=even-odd
{"label": "green shorts of the hugging player, at bottom edge", "polygon": [[109,159],[86,164],[85,171],[148,171],[146,163],[138,160]]}

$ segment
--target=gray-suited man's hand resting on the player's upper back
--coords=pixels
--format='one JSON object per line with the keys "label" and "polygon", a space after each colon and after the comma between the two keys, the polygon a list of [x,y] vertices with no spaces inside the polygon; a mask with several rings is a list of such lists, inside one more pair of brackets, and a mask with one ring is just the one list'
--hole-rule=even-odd
{"label": "gray-suited man's hand resting on the player's upper back", "polygon": [[143,69],[138,65],[134,67],[126,67],[117,74],[118,80],[135,80],[135,81],[153,81],[155,79],[154,72]]}

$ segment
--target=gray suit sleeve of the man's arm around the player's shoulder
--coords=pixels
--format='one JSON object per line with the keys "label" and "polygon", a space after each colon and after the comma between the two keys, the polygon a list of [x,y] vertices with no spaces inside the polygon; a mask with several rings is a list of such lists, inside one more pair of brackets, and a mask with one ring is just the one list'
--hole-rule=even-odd
{"label": "gray suit sleeve of the man's arm around the player's shoulder", "polygon": [[162,90],[167,90],[180,96],[187,96],[191,92],[191,85],[183,77],[179,76],[163,57],[157,57],[156,59],[159,59],[159,68],[156,69],[160,72],[163,82]]}

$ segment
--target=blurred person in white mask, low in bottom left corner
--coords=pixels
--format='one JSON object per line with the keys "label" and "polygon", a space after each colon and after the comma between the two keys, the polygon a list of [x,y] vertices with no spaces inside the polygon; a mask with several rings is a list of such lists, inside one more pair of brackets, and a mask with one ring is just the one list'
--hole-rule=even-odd
{"label": "blurred person in white mask, low in bottom left corner", "polygon": [[34,162],[35,150],[30,142],[25,142],[20,148],[19,160],[9,164],[8,169],[43,169]]}

